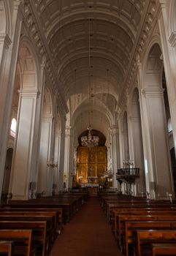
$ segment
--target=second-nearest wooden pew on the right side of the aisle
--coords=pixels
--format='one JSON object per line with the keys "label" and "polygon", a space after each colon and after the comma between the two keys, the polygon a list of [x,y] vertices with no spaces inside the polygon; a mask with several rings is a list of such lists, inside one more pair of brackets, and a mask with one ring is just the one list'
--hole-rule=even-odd
{"label": "second-nearest wooden pew on the right side of the aisle", "polygon": [[176,230],[137,230],[137,256],[152,255],[151,244],[176,242]]}

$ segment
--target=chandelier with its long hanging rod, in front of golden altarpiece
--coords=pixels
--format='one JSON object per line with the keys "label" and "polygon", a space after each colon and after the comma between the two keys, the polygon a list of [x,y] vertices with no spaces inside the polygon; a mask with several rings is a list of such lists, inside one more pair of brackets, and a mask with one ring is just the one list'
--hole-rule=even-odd
{"label": "chandelier with its long hanging rod, in front of golden altarpiece", "polygon": [[[93,110],[91,110],[91,99],[93,101],[93,89],[91,89],[91,24],[90,24],[91,18],[88,20],[88,87],[89,87],[89,111],[88,111],[88,136],[82,136],[81,137],[81,145],[87,146],[87,147],[93,147],[93,146],[99,146],[99,137],[98,136],[92,136],[91,131],[91,114],[93,113]],[[93,102],[92,102],[93,103]]]}

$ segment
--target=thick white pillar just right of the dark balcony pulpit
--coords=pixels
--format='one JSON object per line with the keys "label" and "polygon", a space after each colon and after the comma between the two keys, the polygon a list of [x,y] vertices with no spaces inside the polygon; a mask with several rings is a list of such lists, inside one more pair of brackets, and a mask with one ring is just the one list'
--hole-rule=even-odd
{"label": "thick white pillar just right of the dark balcony pulpit", "polygon": [[141,99],[147,191],[151,197],[167,197],[167,192],[173,193],[173,186],[163,91],[145,89]]}

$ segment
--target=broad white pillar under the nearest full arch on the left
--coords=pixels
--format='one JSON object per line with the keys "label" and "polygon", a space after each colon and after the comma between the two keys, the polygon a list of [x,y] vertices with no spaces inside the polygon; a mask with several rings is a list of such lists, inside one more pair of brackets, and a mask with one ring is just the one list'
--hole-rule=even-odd
{"label": "broad white pillar under the nearest full arch on the left", "polygon": [[[31,179],[32,153],[34,149],[34,129],[38,91],[20,91],[18,108],[18,129],[12,163],[10,188],[13,199],[28,199]],[[19,178],[20,177],[20,178]]]}

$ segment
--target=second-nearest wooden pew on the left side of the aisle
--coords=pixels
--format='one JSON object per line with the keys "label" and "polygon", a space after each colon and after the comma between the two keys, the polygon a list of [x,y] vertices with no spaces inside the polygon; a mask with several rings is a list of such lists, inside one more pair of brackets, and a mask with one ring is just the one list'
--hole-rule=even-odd
{"label": "second-nearest wooden pew on the left side of the aisle", "polygon": [[13,241],[13,255],[35,255],[31,238],[32,230],[0,230],[0,241]]}

